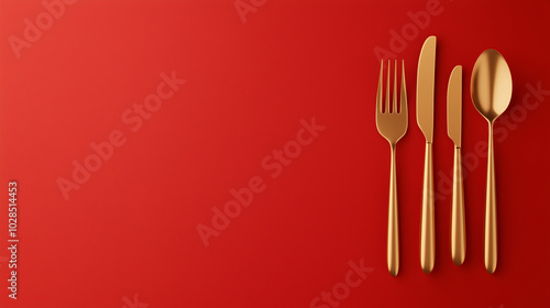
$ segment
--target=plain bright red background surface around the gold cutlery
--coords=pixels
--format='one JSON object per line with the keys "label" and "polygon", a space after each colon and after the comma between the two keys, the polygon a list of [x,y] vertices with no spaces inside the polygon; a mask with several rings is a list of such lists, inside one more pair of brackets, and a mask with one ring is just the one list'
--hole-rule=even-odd
{"label": "plain bright red background surface around the gold cutlery", "polygon": [[[406,61],[410,103],[409,130],[397,147],[397,278],[386,270],[389,148],[374,123],[374,51],[391,50],[389,31],[400,33],[411,22],[407,12],[430,2],[252,3],[258,8],[243,23],[233,0],[78,1],[65,4],[18,58],[11,35],[23,40],[24,20],[35,24],[45,8],[0,1],[0,306],[327,308],[315,298],[342,288],[350,262],[361,260],[370,273],[333,305],[548,306],[550,3],[442,0],[439,14],[408,33],[403,51],[394,48]],[[435,170],[442,197],[436,267],[426,275],[418,249],[425,143],[415,91],[429,35],[438,36]],[[494,275],[483,265],[486,158],[475,151],[487,128],[469,92],[473,64],[486,48],[505,56],[514,81],[510,109],[497,121]],[[446,95],[458,64],[470,162],[461,267],[450,256],[450,177],[442,176],[452,169]],[[124,123],[122,114],[172,72],[187,82],[133,132],[135,122]],[[547,92],[526,109],[529,85]],[[536,98],[527,98],[529,108]],[[274,150],[296,145],[288,142],[297,140],[300,119],[312,118],[326,129],[280,174],[262,167]],[[116,130],[125,143],[65,200],[58,178],[73,180],[72,162],[84,164],[95,153],[89,144]],[[254,177],[265,190],[206,248],[197,226],[211,228],[212,207],[223,209],[230,190]],[[16,300],[7,289],[11,179],[19,188]],[[360,276],[350,275],[356,284]]]}

